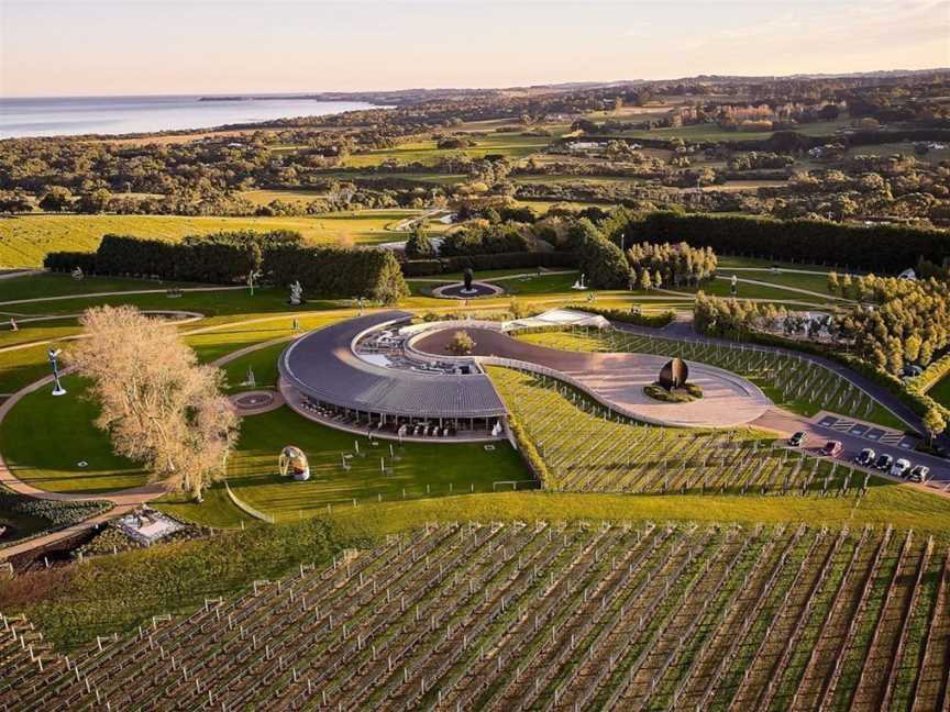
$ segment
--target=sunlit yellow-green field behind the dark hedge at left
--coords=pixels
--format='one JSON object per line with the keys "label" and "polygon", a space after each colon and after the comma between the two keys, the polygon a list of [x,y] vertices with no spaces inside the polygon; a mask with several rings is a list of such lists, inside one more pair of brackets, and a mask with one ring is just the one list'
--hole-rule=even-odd
{"label": "sunlit yellow-green field behind the dark hedge at left", "polygon": [[180,240],[222,230],[295,230],[312,244],[364,244],[396,240],[386,225],[418,215],[413,210],[340,212],[312,218],[190,218],[181,215],[46,215],[0,221],[0,267],[38,267],[57,249],[92,252],[115,233]]}

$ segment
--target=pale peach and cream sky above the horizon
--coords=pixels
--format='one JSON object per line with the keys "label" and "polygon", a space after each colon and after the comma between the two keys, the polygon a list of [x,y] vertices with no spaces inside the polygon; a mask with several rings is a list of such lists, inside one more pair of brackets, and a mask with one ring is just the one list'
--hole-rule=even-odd
{"label": "pale peach and cream sky above the horizon", "polygon": [[0,0],[0,96],[950,66],[950,0]]}

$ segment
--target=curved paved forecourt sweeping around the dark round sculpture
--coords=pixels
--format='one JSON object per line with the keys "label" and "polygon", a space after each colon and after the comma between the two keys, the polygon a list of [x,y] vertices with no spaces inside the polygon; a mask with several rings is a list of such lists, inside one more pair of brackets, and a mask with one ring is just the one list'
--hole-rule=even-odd
{"label": "curved paved forecourt sweeping around the dark round sculpture", "polygon": [[[417,351],[445,356],[456,330],[445,329],[413,342]],[[756,420],[771,402],[753,383],[736,374],[687,361],[689,380],[703,388],[703,398],[689,403],[665,403],[643,393],[670,359],[649,354],[567,352],[529,344],[487,329],[468,327],[474,356],[496,356],[537,364],[579,383],[619,412],[648,423],[680,427],[730,427]]]}

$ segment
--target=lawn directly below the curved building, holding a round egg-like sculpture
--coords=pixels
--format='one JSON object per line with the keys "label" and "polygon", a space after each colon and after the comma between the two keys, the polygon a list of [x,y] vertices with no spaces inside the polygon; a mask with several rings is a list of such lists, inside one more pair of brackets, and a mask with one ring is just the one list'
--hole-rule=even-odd
{"label": "lawn directly below the curved building, holding a round egg-like sculpture", "polygon": [[[360,443],[360,454],[354,442]],[[352,507],[355,498],[367,504],[450,493],[490,492],[493,482],[531,478],[519,455],[505,442],[487,452],[474,444],[398,443],[344,433],[313,423],[284,407],[245,418],[238,449],[229,459],[232,491],[258,510],[280,520],[313,516],[333,508]],[[394,461],[389,445],[399,458]],[[277,456],[285,445],[307,453],[311,478],[295,482],[277,472]],[[342,457],[350,454],[350,469]],[[391,474],[380,471],[380,458]],[[451,490],[450,490],[451,486]],[[428,491],[427,491],[428,487]]]}

